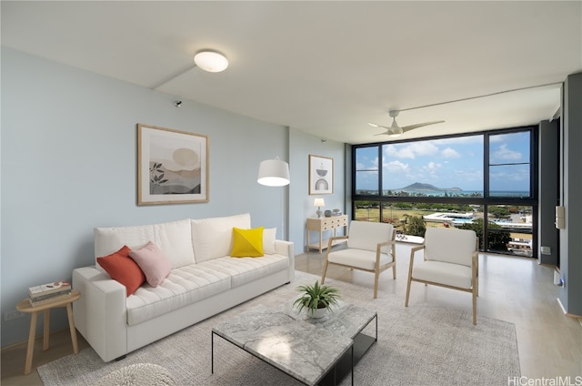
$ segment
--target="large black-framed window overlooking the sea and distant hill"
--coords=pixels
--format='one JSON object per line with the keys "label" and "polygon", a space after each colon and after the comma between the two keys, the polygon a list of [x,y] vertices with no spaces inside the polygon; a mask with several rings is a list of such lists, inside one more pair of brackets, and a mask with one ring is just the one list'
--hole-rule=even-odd
{"label": "large black-framed window overlooking the sea and distant hill", "polygon": [[400,238],[474,229],[481,250],[533,257],[536,141],[536,127],[519,127],[354,146],[352,216],[392,223]]}

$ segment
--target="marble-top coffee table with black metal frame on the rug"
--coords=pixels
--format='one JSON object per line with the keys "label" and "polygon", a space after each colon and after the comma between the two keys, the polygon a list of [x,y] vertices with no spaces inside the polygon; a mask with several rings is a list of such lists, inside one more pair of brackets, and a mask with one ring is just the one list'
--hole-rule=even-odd
{"label": "marble-top coffee table with black metal frame on the rug", "polygon": [[[376,320],[376,336],[362,331]],[[212,372],[214,336],[235,344],[276,369],[306,385],[336,384],[377,340],[376,311],[340,302],[340,307],[321,319],[292,305],[276,308],[259,305],[212,329]]]}

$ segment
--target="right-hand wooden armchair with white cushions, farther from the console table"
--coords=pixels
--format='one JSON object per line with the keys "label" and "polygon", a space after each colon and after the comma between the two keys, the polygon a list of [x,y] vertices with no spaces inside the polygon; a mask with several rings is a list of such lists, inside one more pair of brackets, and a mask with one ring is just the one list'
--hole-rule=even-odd
{"label": "right-hand wooden armchair with white cushions, farther from the console table", "polygon": [[[473,324],[477,324],[478,245],[479,239],[473,230],[426,229],[425,244],[410,249],[405,307],[408,307],[412,281],[471,292],[473,294]],[[425,252],[425,259],[415,265],[415,254],[422,249]]]}

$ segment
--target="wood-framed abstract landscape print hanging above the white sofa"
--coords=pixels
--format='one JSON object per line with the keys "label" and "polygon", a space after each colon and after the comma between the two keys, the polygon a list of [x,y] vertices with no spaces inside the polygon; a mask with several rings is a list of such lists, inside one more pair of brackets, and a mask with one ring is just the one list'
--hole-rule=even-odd
{"label": "wood-framed abstract landscape print hanging above the white sofa", "polygon": [[208,137],[137,124],[137,205],[208,201]]}

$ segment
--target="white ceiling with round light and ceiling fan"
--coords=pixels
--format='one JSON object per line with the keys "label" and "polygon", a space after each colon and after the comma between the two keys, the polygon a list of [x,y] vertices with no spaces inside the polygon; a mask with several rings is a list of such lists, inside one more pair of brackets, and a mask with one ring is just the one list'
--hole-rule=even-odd
{"label": "white ceiling with round light and ceiling fan", "polygon": [[[410,109],[400,126],[446,121],[405,138],[537,124],[582,70],[582,1],[2,1],[1,13],[3,46],[351,144],[386,140],[367,122],[389,126],[391,109]],[[228,57],[225,72],[194,66],[203,48]]]}

